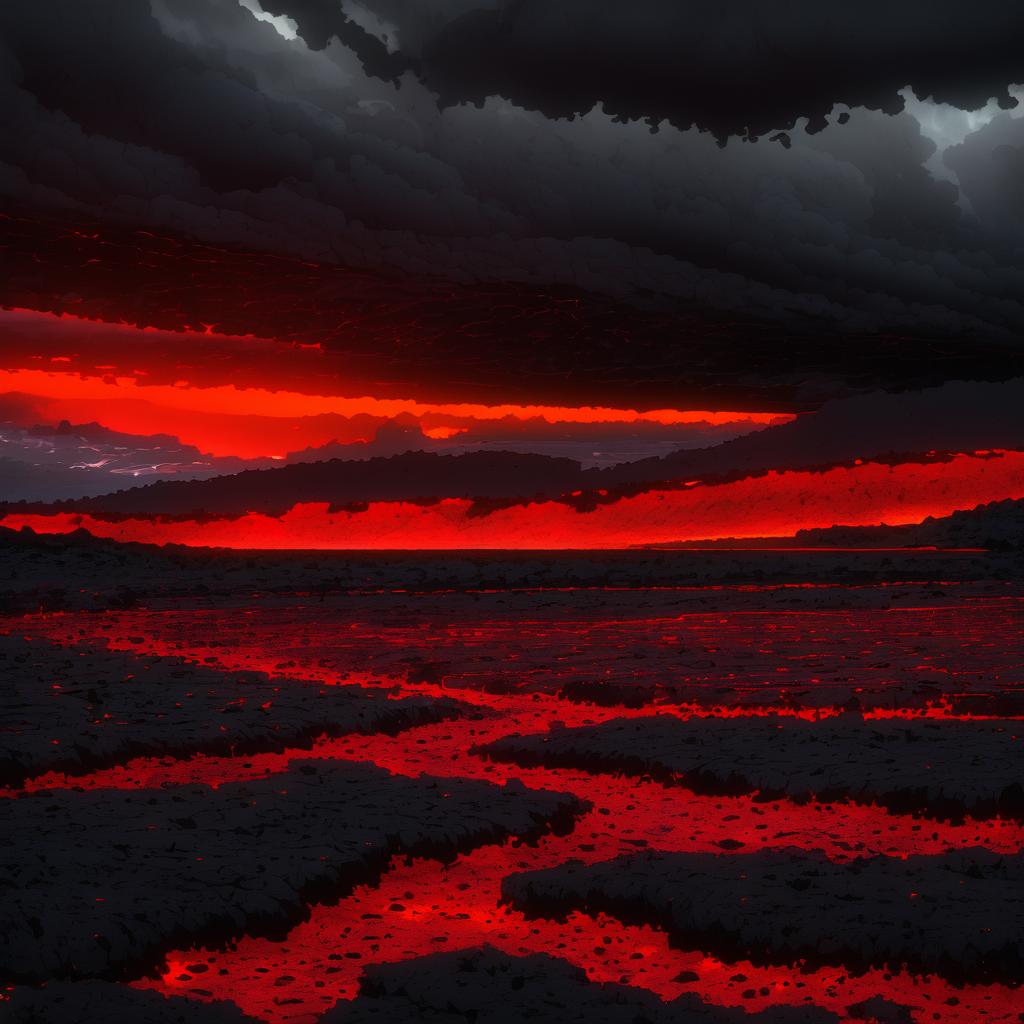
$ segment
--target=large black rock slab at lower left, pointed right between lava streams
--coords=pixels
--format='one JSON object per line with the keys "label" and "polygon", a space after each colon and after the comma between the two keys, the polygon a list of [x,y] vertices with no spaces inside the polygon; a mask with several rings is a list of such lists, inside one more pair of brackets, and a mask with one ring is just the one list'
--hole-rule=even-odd
{"label": "large black rock slab at lower left, pointed right between lava streams", "polygon": [[292,762],[279,775],[0,801],[0,978],[113,977],[168,948],[282,935],[392,856],[440,859],[566,827],[562,794]]}

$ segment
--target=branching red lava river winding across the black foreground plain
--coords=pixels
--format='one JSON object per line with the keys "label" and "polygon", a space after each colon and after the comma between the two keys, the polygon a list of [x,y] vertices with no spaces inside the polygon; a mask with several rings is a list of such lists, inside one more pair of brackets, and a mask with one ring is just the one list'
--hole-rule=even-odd
{"label": "branching red lava river winding across the black foreground plain", "polygon": [[[70,665],[98,650],[183,658],[210,673],[266,673],[283,693],[309,681],[325,691],[355,684],[389,700],[454,697],[462,709],[397,731],[314,729],[308,741],[265,750],[208,746],[73,775],[37,772],[24,791],[219,787],[273,778],[290,761],[314,759],[372,762],[410,778],[514,782],[585,802],[567,827],[487,843],[443,862],[394,856],[379,881],[313,900],[302,920],[278,934],[186,943],[155,972],[125,976],[136,988],[229,999],[269,1022],[311,1024],[339,999],[356,996],[368,965],[482,943],[511,955],[561,957],[592,981],[665,999],[693,992],[751,1013],[814,1005],[853,1019],[851,1006],[881,994],[910,1008],[920,1022],[1018,1020],[1013,977],[730,955],[607,909],[538,914],[503,891],[516,872],[648,851],[728,857],[814,850],[841,864],[976,848],[1018,853],[1024,820],[1014,813],[910,813],[855,788],[818,799],[758,784],[753,775],[749,785],[733,779],[716,788],[628,765],[510,760],[486,749],[504,737],[565,735],[655,715],[680,723],[713,718],[740,729],[768,720],[780,729],[786,721],[940,729],[997,721],[1016,737],[1024,708],[1018,589],[935,577],[919,563],[884,583],[651,587],[629,591],[628,601],[613,590],[571,585],[382,589],[327,600],[250,594],[23,615],[7,620],[10,637],[58,643]],[[117,716],[108,714],[104,725],[96,708],[97,729],[116,729]],[[273,701],[265,708],[274,714]]]}

